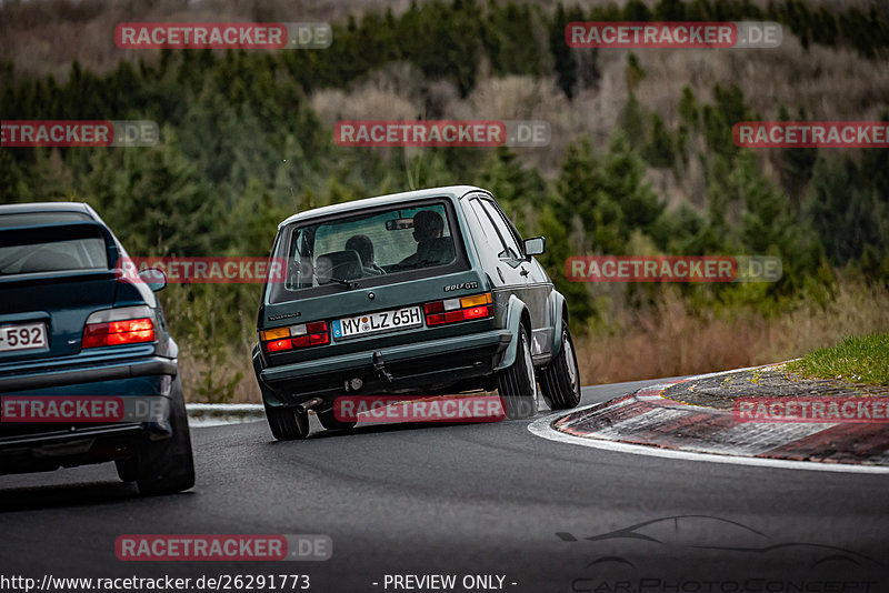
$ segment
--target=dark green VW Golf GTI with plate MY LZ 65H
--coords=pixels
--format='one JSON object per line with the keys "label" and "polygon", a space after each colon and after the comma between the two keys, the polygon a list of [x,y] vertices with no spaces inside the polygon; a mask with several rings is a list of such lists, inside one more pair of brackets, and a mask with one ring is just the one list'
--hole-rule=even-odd
{"label": "dark green VW Golf GTI with plate MY LZ 65H", "polygon": [[[565,298],[490,192],[448,187],[283,221],[259,308],[256,370],[272,434],[329,430],[338,398],[498,390],[507,418],[580,401]],[[538,389],[538,382],[540,389]]]}

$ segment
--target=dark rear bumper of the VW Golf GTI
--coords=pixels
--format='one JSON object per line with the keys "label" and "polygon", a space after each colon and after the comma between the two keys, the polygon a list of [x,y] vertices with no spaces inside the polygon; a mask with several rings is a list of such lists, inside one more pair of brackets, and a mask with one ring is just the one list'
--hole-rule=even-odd
{"label": "dark rear bumper of the VW Golf GTI", "polygon": [[[497,361],[512,340],[509,330],[489,330],[452,338],[364,350],[337,356],[261,369],[253,364],[268,405],[300,403],[314,396],[331,400],[344,393],[343,384],[360,378],[364,386],[354,394],[434,391],[493,373]],[[382,355],[391,383],[382,381],[373,365]]]}

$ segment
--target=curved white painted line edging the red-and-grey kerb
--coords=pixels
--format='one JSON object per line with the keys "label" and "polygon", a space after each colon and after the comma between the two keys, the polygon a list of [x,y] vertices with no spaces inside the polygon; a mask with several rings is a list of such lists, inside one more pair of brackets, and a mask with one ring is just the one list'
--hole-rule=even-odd
{"label": "curved white painted line edging the red-and-grey kerb", "polygon": [[[575,410],[581,411],[586,408]],[[613,451],[618,453],[630,453],[635,455],[649,455],[652,458],[667,458],[683,461],[707,461],[711,463],[729,463],[735,465],[751,465],[757,468],[776,468],[781,470],[809,470],[818,472],[841,472],[841,473],[870,473],[870,474],[889,474],[889,466],[878,465],[850,465],[848,463],[823,463],[818,461],[790,461],[781,459],[765,459],[765,458],[742,458],[737,455],[718,455],[713,453],[695,453],[691,451],[678,451],[673,449],[659,449],[648,445],[636,445],[629,443],[620,443],[616,441],[600,441],[597,439],[585,439],[581,436],[573,436],[559,432],[551,426],[552,422],[563,416],[565,412],[550,414],[539,420],[535,420],[528,424],[528,430],[531,434],[557,441],[560,443],[575,444],[581,446],[590,446],[592,449],[600,449],[603,451]]]}

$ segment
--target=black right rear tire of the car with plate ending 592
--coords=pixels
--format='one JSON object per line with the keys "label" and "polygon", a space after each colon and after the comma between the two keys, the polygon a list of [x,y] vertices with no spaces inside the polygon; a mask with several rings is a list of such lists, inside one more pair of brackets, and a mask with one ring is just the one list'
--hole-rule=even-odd
{"label": "black right rear tire of the car with plate ending 592", "polygon": [[[191,455],[191,435],[188,431],[188,412],[182,382],[177,376],[170,392],[170,425],[173,435],[162,441],[150,441],[141,446],[132,460],[136,483],[142,495],[171,494],[194,485],[194,461]],[[132,465],[123,463],[118,469],[121,479],[131,478]]]}

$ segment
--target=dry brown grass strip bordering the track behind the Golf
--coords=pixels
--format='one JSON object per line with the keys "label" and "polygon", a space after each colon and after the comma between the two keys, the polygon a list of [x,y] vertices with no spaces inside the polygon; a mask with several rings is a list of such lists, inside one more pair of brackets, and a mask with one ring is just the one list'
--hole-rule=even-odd
{"label": "dry brown grass strip bordering the track behind the Golf", "polygon": [[[825,309],[801,305],[786,315],[763,319],[751,312],[723,316],[696,312],[672,293],[647,313],[627,312],[622,331],[576,335],[585,384],[616,383],[738,369],[795,359],[848,335],[889,331],[889,293],[856,284],[840,285]],[[578,332],[578,329],[575,329]],[[231,403],[260,403],[252,345],[246,339],[216,365],[219,380],[243,373]],[[201,401],[197,385],[209,371],[182,346],[180,368],[189,401]]]}

